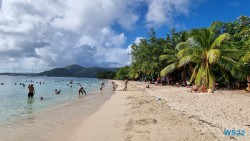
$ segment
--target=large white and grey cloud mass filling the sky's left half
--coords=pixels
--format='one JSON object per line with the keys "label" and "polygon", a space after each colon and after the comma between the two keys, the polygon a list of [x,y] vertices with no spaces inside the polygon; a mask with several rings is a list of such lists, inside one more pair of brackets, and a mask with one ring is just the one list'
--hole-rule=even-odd
{"label": "large white and grey cloud mass filling the sky's left half", "polygon": [[27,70],[34,64],[43,66],[41,70],[71,63],[122,66],[128,56],[122,48],[126,37],[111,26],[135,26],[138,18],[129,8],[132,4],[119,0],[4,0],[0,65],[9,64],[6,70],[13,66]]}

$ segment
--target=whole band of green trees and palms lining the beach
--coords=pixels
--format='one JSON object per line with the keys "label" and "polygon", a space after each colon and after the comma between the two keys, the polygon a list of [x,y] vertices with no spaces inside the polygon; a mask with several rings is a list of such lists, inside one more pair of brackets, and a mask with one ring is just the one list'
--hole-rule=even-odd
{"label": "whole band of green trees and palms lining the beach", "polygon": [[120,68],[117,79],[186,82],[213,88],[245,83],[250,75],[250,17],[233,22],[215,21],[209,28],[189,31],[172,29],[166,38],[157,38],[151,29],[148,38],[132,45],[132,63]]}

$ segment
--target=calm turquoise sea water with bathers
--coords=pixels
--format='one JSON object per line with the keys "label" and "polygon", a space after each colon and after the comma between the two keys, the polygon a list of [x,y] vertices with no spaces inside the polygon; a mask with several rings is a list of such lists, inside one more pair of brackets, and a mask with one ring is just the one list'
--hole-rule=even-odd
{"label": "calm turquoise sea water with bathers", "polygon": [[[79,85],[84,87],[87,95],[93,95],[93,90],[98,89],[102,82],[95,78],[0,75],[0,84],[3,83],[0,85],[0,126],[79,98]],[[29,84],[35,87],[33,99],[27,98]],[[55,89],[61,90],[60,95],[55,94]],[[40,97],[44,99],[40,100]]]}

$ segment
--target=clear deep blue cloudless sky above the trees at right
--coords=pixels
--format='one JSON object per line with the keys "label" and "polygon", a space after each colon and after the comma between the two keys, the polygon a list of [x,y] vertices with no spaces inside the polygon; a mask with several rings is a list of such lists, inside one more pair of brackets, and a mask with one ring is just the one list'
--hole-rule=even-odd
{"label": "clear deep blue cloudless sky above the trees at right", "polygon": [[[175,17],[178,26],[162,25],[153,27],[158,37],[166,37],[169,29],[175,27],[178,31],[193,28],[209,27],[214,21],[233,22],[240,15],[250,16],[250,1],[248,0],[203,0],[191,6],[189,15]],[[144,7],[145,8],[145,7]],[[140,24],[135,31],[127,32],[127,35],[147,37],[148,27]],[[133,38],[129,42],[133,42]]]}

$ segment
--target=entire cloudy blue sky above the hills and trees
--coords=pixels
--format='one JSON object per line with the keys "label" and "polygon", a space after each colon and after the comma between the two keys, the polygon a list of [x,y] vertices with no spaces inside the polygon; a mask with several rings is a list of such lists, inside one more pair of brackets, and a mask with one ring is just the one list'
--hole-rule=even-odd
{"label": "entire cloudy blue sky above the hills and trees", "polygon": [[249,0],[0,0],[0,72],[122,67],[150,28],[165,38],[240,15]]}

